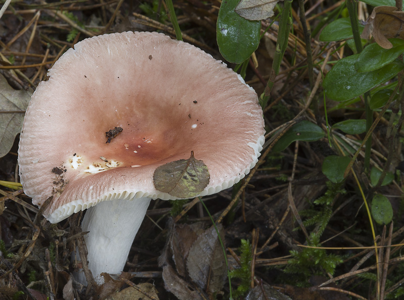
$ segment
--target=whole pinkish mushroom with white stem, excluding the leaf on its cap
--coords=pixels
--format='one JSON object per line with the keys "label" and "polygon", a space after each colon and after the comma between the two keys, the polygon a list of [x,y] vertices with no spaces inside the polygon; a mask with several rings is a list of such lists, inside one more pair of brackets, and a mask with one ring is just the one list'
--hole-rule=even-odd
{"label": "whole pinkish mushroom with white stem, excluding the leaf on its cap", "polygon": [[210,172],[204,196],[238,182],[260,156],[257,94],[188,43],[156,32],[87,38],[48,76],[25,114],[21,183],[38,206],[53,196],[43,212],[51,223],[87,209],[82,230],[98,283],[123,270],[150,199],[176,199],[155,188],[157,167],[193,151]]}

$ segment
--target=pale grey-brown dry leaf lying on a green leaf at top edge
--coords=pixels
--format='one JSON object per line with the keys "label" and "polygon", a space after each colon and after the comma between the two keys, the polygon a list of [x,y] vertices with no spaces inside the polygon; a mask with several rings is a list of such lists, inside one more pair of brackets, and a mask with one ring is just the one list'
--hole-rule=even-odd
{"label": "pale grey-brown dry leaf lying on a green leaf at top edge", "polygon": [[265,20],[274,15],[274,8],[278,1],[279,0],[241,0],[234,11],[247,20]]}

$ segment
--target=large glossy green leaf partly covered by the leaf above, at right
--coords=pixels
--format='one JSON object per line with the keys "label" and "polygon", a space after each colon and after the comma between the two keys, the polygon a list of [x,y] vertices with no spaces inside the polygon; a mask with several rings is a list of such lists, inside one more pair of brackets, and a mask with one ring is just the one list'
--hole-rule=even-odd
{"label": "large glossy green leaf partly covered by the leaf above, at right", "polygon": [[339,60],[326,75],[323,87],[327,97],[335,101],[345,101],[367,92],[376,85],[395,76],[404,64],[394,62],[371,72],[358,72],[355,63],[359,54]]}

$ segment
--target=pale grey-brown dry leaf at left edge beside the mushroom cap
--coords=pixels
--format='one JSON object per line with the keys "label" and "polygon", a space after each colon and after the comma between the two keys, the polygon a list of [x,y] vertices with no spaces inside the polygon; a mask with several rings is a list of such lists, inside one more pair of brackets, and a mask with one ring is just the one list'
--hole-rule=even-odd
{"label": "pale grey-brown dry leaf at left edge beside the mushroom cap", "polygon": [[30,99],[30,93],[12,88],[0,74],[0,157],[9,153],[16,135],[21,132],[24,113],[15,111],[25,112]]}

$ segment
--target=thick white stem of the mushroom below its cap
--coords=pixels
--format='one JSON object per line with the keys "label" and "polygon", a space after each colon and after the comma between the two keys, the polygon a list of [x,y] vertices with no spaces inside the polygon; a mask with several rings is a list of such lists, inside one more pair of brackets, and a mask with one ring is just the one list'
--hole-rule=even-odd
{"label": "thick white stem of the mushroom below its cap", "polygon": [[[146,214],[150,198],[115,199],[87,209],[81,228],[85,236],[88,268],[98,284],[104,282],[100,273],[120,274],[130,247]],[[84,274],[78,281],[86,284]]]}

